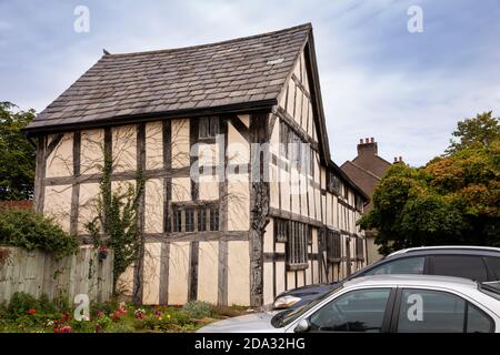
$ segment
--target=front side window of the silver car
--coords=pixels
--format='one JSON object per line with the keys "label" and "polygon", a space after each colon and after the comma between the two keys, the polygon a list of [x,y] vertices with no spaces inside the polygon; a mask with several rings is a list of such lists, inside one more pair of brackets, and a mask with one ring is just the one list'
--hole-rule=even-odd
{"label": "front side window of the silver car", "polygon": [[343,294],[310,316],[311,331],[379,333],[390,292],[370,288]]}

